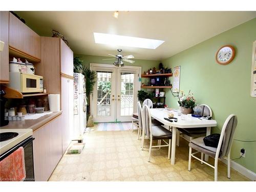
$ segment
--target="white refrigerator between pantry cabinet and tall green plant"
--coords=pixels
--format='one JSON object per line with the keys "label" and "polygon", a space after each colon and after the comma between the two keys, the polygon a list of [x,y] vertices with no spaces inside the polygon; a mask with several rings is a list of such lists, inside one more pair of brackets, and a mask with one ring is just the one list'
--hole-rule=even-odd
{"label": "white refrigerator between pantry cabinet and tall green plant", "polygon": [[74,73],[74,139],[79,139],[86,129],[86,79]]}

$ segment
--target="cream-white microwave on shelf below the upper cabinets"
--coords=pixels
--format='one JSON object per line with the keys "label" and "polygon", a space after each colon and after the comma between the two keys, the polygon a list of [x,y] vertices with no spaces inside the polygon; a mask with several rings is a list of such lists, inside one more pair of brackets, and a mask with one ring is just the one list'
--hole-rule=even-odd
{"label": "cream-white microwave on shelf below the upper cabinets", "polygon": [[10,72],[10,83],[8,86],[22,93],[35,93],[44,91],[44,80],[42,76]]}

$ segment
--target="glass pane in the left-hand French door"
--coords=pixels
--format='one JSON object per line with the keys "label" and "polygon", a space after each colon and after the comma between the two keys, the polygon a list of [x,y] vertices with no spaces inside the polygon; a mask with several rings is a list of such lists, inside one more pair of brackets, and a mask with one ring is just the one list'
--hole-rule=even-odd
{"label": "glass pane in the left-hand French door", "polygon": [[110,72],[97,72],[97,116],[111,116]]}

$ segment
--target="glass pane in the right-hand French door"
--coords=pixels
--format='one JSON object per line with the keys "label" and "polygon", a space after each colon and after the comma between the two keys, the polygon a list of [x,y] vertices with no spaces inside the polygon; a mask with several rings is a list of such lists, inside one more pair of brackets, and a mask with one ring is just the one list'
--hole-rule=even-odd
{"label": "glass pane in the right-hand French door", "polygon": [[134,74],[121,73],[121,116],[133,115]]}

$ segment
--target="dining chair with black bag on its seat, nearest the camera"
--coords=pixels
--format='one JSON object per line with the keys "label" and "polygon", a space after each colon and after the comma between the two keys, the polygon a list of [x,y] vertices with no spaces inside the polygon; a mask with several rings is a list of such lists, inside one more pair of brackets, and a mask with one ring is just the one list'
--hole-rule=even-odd
{"label": "dining chair with black bag on its seat, nearest the camera", "polygon": [[[215,170],[214,180],[217,181],[218,180],[218,159],[227,159],[227,177],[230,178],[230,151],[231,151],[233,135],[234,135],[234,131],[236,130],[237,123],[238,123],[238,119],[236,115],[231,114],[227,117],[221,130],[218,147],[206,146],[203,141],[204,137],[199,137],[191,140],[188,144],[189,146],[188,170],[190,171],[191,169],[191,157],[194,157],[195,159],[201,161],[202,163],[205,163],[208,166],[214,168]],[[192,153],[192,148],[197,152]],[[214,166],[194,156],[199,152],[214,158],[215,159]]]}

